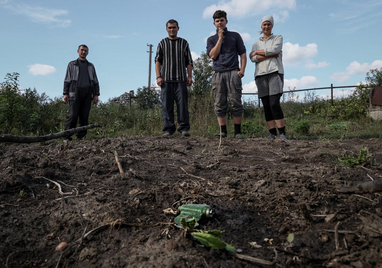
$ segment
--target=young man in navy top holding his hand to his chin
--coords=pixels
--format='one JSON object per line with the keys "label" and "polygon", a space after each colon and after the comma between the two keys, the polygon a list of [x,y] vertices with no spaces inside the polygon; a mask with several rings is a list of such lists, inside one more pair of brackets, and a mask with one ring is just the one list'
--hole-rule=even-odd
{"label": "young man in navy top holding his hand to his chin", "polygon": [[[241,117],[243,116],[241,78],[244,76],[247,64],[246,49],[240,34],[227,30],[228,20],[225,11],[215,11],[213,18],[216,34],[207,39],[207,55],[213,60],[214,111],[221,128],[218,136],[227,137],[228,99],[235,124],[234,136],[238,140],[243,140],[244,137],[241,135]],[[240,67],[238,55],[240,56]]]}

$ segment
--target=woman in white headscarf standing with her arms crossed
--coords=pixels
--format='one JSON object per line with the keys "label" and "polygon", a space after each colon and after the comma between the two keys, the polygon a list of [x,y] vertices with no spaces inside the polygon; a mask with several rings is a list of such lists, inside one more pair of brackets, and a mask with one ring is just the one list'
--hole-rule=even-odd
{"label": "woman in white headscarf standing with her arms crossed", "polygon": [[249,58],[256,63],[255,82],[257,93],[261,99],[265,120],[269,128],[268,139],[277,136],[276,125],[281,140],[287,140],[285,135],[285,119],[280,106],[280,98],[283,94],[284,68],[282,63],[283,37],[272,34],[274,26],[273,17],[264,16],[261,19],[261,31],[263,34],[252,46]]}

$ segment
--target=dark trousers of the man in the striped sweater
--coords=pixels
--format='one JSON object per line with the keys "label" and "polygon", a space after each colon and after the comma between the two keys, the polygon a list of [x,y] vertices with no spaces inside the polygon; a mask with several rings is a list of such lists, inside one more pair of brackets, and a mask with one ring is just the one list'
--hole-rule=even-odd
{"label": "dark trousers of the man in the striped sweater", "polygon": [[186,82],[164,82],[161,91],[163,133],[173,134],[176,130],[174,116],[174,100],[178,114],[179,132],[190,129],[188,114],[188,89]]}

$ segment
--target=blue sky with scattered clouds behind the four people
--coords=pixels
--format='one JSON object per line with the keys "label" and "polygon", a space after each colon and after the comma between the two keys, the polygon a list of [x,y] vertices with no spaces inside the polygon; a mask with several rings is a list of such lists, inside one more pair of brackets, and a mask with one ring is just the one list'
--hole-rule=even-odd
{"label": "blue sky with scattered clouds behind the four people", "polygon": [[[217,9],[227,11],[228,30],[241,34],[247,54],[260,37],[262,16],[274,16],[273,33],[284,41],[284,90],[356,85],[369,69],[382,67],[380,0],[0,0],[0,76],[18,72],[21,88],[62,96],[68,62],[84,43],[100,81],[100,100],[107,101],[147,86],[147,43],[153,45],[155,82],[155,51],[167,37],[169,19],[179,22],[178,36],[188,40],[194,58],[206,50]],[[254,69],[248,60],[245,93],[257,92]]]}

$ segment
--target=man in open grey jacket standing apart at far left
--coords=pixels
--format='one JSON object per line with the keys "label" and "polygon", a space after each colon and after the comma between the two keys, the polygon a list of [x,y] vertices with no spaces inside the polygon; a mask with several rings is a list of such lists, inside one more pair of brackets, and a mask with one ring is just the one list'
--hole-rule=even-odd
{"label": "man in open grey jacket standing apart at far left", "polygon": [[[66,69],[64,80],[64,102],[69,102],[68,117],[66,118],[65,130],[75,128],[79,119],[79,127],[88,125],[91,101],[98,103],[99,82],[95,73],[94,65],[86,60],[89,48],[80,45],[77,50],[78,59],[71,61]],[[79,140],[86,136],[87,130],[76,134]],[[65,137],[64,142],[71,140]]]}

